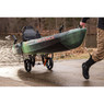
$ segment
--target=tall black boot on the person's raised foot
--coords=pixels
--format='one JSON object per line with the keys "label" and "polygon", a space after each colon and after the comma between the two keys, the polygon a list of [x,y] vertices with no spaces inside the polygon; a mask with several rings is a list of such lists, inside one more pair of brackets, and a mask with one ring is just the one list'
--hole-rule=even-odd
{"label": "tall black boot on the person's raised foot", "polygon": [[82,74],[85,79],[89,79],[89,69],[90,67],[95,63],[95,61],[92,59],[92,56],[90,56],[89,60],[82,63]]}

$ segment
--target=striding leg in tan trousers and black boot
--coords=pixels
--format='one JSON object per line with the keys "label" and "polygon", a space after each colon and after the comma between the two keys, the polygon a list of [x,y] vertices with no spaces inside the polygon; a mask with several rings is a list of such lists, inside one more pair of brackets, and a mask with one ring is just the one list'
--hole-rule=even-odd
{"label": "striding leg in tan trousers and black boot", "polygon": [[97,50],[92,54],[90,59],[82,63],[82,74],[89,79],[90,67],[104,58],[104,30],[97,28]]}

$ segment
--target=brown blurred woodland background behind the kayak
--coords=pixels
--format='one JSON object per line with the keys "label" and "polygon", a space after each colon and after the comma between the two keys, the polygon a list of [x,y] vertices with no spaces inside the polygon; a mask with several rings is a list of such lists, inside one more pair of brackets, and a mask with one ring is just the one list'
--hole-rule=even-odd
{"label": "brown blurred woodland background behind the kayak", "polygon": [[[8,34],[21,34],[21,28],[26,25],[38,30],[43,36],[58,33],[63,24],[63,31],[79,26],[81,18],[0,18],[0,37]],[[96,47],[96,24],[97,19],[91,18],[88,21],[86,47]]]}

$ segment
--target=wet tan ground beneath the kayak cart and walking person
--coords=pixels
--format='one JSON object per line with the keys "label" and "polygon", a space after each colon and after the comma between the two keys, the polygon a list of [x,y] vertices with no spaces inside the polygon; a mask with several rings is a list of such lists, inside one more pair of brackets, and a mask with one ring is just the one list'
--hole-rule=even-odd
{"label": "wet tan ground beneath the kayak cart and walking person", "polygon": [[91,79],[81,74],[81,60],[56,61],[53,71],[43,65],[35,66],[27,73],[23,63],[1,65],[0,85],[2,86],[104,86],[104,60],[91,67]]}

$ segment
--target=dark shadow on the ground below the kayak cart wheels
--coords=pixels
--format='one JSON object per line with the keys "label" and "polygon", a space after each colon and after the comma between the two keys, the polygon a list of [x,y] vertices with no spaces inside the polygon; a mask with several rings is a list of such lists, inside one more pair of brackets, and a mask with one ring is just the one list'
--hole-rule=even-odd
{"label": "dark shadow on the ground below the kayak cart wheels", "polygon": [[44,72],[32,71],[26,72],[23,69],[18,71],[18,77],[24,81],[25,84],[32,86],[61,86],[61,84],[56,83],[57,81],[54,72],[46,70]]}

